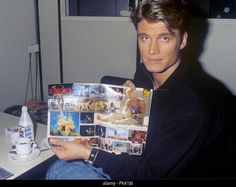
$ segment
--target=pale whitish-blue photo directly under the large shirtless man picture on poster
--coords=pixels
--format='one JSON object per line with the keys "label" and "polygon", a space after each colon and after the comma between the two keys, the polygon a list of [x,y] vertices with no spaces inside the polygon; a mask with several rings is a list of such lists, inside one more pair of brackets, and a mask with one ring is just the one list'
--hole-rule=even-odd
{"label": "pale whitish-blue photo directly under the large shirtless man picture on poster", "polygon": [[121,127],[107,127],[106,137],[118,140],[128,140],[129,130]]}

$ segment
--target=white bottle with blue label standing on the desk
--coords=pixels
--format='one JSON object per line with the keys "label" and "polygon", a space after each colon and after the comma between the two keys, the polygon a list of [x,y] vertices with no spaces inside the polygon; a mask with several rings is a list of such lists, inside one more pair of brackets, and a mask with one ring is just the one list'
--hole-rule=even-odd
{"label": "white bottle with blue label standing on the desk", "polygon": [[22,113],[18,123],[19,137],[34,140],[34,124],[28,113],[28,107],[22,106],[21,111]]}

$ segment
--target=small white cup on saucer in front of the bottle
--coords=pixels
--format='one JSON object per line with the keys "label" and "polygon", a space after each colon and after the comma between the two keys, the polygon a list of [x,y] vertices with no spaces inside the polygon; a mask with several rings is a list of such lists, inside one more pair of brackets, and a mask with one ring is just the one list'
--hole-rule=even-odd
{"label": "small white cup on saucer in front of the bottle", "polygon": [[26,158],[32,151],[30,138],[18,138],[16,141],[16,153],[19,157]]}

